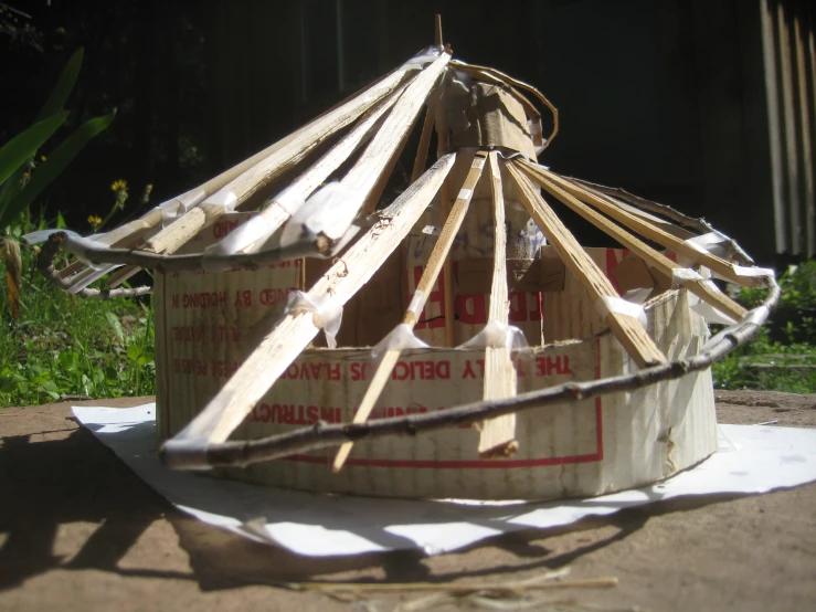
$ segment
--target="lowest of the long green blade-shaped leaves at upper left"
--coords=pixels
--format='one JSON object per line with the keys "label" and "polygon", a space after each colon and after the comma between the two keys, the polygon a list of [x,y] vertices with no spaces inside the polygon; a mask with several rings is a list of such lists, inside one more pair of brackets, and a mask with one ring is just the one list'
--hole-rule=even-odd
{"label": "lowest of the long green blade-shaped leaves at upper left", "polygon": [[115,115],[116,110],[114,109],[107,115],[86,122],[51,151],[49,159],[31,177],[31,182],[17,194],[4,210],[0,211],[0,228],[8,224],[9,219],[13,219],[25,210],[34,201],[34,198],[71,163],[85,145],[110,125]]}

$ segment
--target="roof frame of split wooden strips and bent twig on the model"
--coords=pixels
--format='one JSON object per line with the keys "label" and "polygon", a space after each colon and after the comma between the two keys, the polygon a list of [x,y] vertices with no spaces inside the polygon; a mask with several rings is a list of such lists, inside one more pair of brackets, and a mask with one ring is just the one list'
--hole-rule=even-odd
{"label": "roof frame of split wooden strips and bent twig on the model", "polygon": [[[441,48],[442,44],[441,25],[437,25],[436,46]],[[361,158],[343,179],[358,191],[360,201],[353,207],[353,210],[343,212],[347,217],[354,218],[357,212],[364,208],[367,201],[370,204],[373,199],[379,199],[381,186],[384,184],[386,176],[392,170],[396,151],[402,149],[411,126],[416,122],[423,104],[427,104],[428,94],[446,70],[448,62],[457,70],[464,70],[471,75],[483,76],[490,82],[507,86],[508,91],[524,107],[528,118],[540,120],[540,114],[520,89],[536,95],[553,113],[553,133],[543,143],[543,146],[549,145],[558,133],[558,110],[540,92],[492,68],[451,61],[448,56],[441,54],[418,72],[414,72],[414,68],[394,71],[391,75],[368,89],[351,96],[280,143],[208,181],[201,189],[191,190],[171,200],[171,203],[176,202],[181,208],[189,208],[190,210],[167,228],[159,230],[161,211],[155,209],[141,219],[103,236],[98,241],[98,250],[88,249],[82,254],[94,263],[128,264],[109,276],[112,285],[127,279],[138,271],[139,266],[149,266],[156,270],[199,268],[202,265],[201,255],[173,255],[172,252],[192,238],[195,232],[205,228],[208,223],[213,222],[225,212],[224,207],[206,203],[205,200],[209,197],[219,192],[231,192],[236,198],[239,205],[248,201],[252,194],[262,186],[274,180],[284,170],[295,168],[309,155],[309,151],[314,150],[316,143],[330,135],[339,134],[340,130],[357,122],[357,127],[351,128],[335,148],[317,162],[316,166],[326,162],[322,167],[319,169],[311,167],[301,173],[298,179],[301,180],[301,187],[307,183],[312,183],[316,187],[322,178],[330,175],[331,170],[347,159],[351,151],[356,150],[362,143],[368,141],[367,149]],[[372,88],[378,92],[374,96],[368,95]],[[385,107],[386,105],[388,107]],[[380,116],[374,117],[372,114],[375,113],[380,113]],[[436,118],[439,120],[438,116]],[[381,120],[381,130],[373,137],[371,137],[371,133],[363,129],[367,120],[371,123],[371,126],[367,129]],[[439,151],[446,151],[448,146],[446,127],[444,125],[434,126],[434,114],[428,109],[425,114],[420,146],[414,159],[412,186],[392,207],[368,223],[368,228],[365,228],[365,221],[358,219],[358,226],[353,228],[350,233],[347,232],[341,235],[338,232],[328,236],[333,243],[338,243],[338,241],[350,235],[357,236],[359,234],[361,238],[357,239],[343,254],[343,261],[332,266],[309,289],[307,295],[310,298],[335,305],[345,303],[368,279],[371,273],[370,267],[381,265],[388,255],[396,249],[435,193],[442,192],[443,207],[441,208],[443,210],[449,205],[452,199],[447,193],[449,188],[447,175],[453,167],[456,154],[453,152],[442,157],[428,171],[423,173],[434,127],[436,127],[439,136]],[[352,137],[352,135],[354,136]],[[360,138],[354,143],[357,137]],[[354,144],[352,145],[352,143]],[[543,146],[539,147],[538,150],[543,149]],[[456,235],[467,213],[471,192],[481,175],[481,165],[484,165],[486,158],[490,170],[495,211],[495,258],[488,324],[507,325],[507,271],[505,261],[507,236],[504,231],[505,210],[501,187],[502,170],[500,168],[517,186],[522,203],[555,246],[565,265],[576,275],[593,298],[619,300],[619,295],[612,288],[605,275],[586,256],[574,236],[563,226],[533,182],[543,187],[549,196],[560,200],[582,218],[630,249],[648,266],[654,267],[661,274],[672,276],[681,266],[657,252],[639,236],[668,249],[674,249],[679,254],[689,257],[695,265],[708,266],[717,274],[734,282],[746,286],[764,284],[771,289],[769,298],[763,306],[746,313],[744,308],[713,288],[710,283],[700,278],[680,278],[678,281],[680,287],[688,288],[708,304],[739,321],[722,336],[718,336],[703,347],[702,352],[693,358],[667,363],[665,356],[657,350],[653,340],[645,334],[635,318],[612,308],[607,313],[610,327],[626,351],[640,366],[642,369],[635,373],[616,377],[615,379],[573,382],[517,395],[516,372],[508,347],[488,346],[485,349],[486,372],[484,400],[481,402],[433,414],[416,414],[404,419],[368,422],[369,412],[379,398],[393,365],[401,354],[401,350],[386,350],[371,386],[367,390],[354,422],[342,425],[319,425],[259,441],[225,442],[230,433],[252,410],[255,402],[259,401],[263,394],[268,391],[277,376],[319,333],[321,327],[319,309],[315,312],[303,309],[290,312],[269,330],[253,355],[244,362],[236,374],[227,381],[226,386],[219,391],[204,411],[181,434],[166,443],[163,447],[165,461],[173,467],[241,465],[284,456],[293,452],[343,443],[347,455],[348,450],[351,449],[351,443],[359,437],[416,433],[463,423],[477,423],[477,426],[480,428],[479,452],[483,457],[506,455],[515,450],[515,413],[518,410],[545,407],[564,401],[580,401],[608,392],[633,390],[658,380],[678,378],[689,371],[703,369],[735,346],[750,339],[756,333],[759,325],[767,317],[769,309],[778,299],[778,287],[776,287],[772,275],[741,274],[730,262],[690,245],[683,238],[685,234],[667,231],[668,224],[650,217],[650,213],[663,214],[687,228],[701,232],[711,231],[711,228],[702,222],[695,224],[688,218],[676,213],[671,209],[655,209],[658,204],[651,203],[654,205],[650,207],[626,192],[611,192],[608,188],[560,177],[529,161],[521,161],[518,158],[499,161],[496,151],[491,151],[489,155],[487,151],[479,151],[465,179],[463,189],[459,191],[459,196],[454,200],[449,214],[446,215],[443,235],[436,245],[438,252],[437,249],[434,249],[431,261],[428,261],[417,286],[418,299],[413,300],[412,306],[405,313],[403,320],[410,328],[413,328],[416,324],[418,313],[424,305],[424,297],[430,294],[431,288],[442,273],[446,281],[446,344],[453,346],[453,282],[448,256],[451,244],[448,243],[453,242],[453,236]],[[327,162],[327,159],[330,159],[330,163]],[[321,180],[318,180],[318,178]],[[308,189],[304,188],[305,197],[309,192]],[[637,210],[622,205],[622,202],[616,198],[628,201]],[[268,212],[264,212],[271,218],[275,218],[272,220],[273,224],[277,223],[279,225],[288,217],[280,215],[282,218],[278,220],[276,218],[279,213],[276,210],[277,208],[280,207],[273,201],[269,209],[267,209]],[[649,214],[642,212],[642,210]],[[672,215],[671,213],[676,214]],[[623,226],[613,223],[611,219]],[[173,228],[173,225],[177,226]],[[364,231],[367,229],[368,231]],[[71,241],[72,239],[67,234],[52,235],[51,240],[43,246],[39,257],[40,267],[49,278],[63,288],[70,288],[80,279],[87,279],[96,273],[93,270],[83,272],[84,264],[80,263],[71,264],[62,273],[54,270],[55,254],[61,247],[70,245]],[[146,242],[147,249],[134,250]],[[80,243],[77,242],[77,244]],[[73,245],[72,252],[77,252],[77,244]],[[290,257],[293,253],[308,255],[311,252],[307,250],[307,246],[294,245],[294,250],[286,252],[278,250],[277,252],[237,253],[231,256],[232,258],[225,256],[224,263],[226,267],[253,267],[284,256]],[[152,252],[150,249],[152,249]],[[301,249],[301,251],[297,251],[297,249]],[[742,253],[739,246],[735,246],[734,252]],[[750,258],[745,256],[741,261],[750,262]],[[229,265],[226,265],[227,262]],[[753,272],[757,271],[754,270]],[[64,277],[61,277],[61,274]],[[145,295],[148,291],[146,287],[136,289],[113,288],[112,291],[85,288],[78,292],[77,295],[83,297],[114,297]],[[382,376],[380,376],[381,372]],[[343,449],[338,455],[337,468],[345,458],[341,458],[342,453]]]}

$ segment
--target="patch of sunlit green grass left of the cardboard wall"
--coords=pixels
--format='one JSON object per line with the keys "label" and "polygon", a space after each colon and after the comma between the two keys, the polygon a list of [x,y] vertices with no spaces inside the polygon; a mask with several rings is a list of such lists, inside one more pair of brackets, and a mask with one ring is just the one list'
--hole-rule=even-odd
{"label": "patch of sunlit green grass left of the cardboard wall", "polygon": [[82,299],[49,283],[22,246],[20,317],[0,291],[0,407],[65,395],[155,393],[152,310],[129,299]]}

